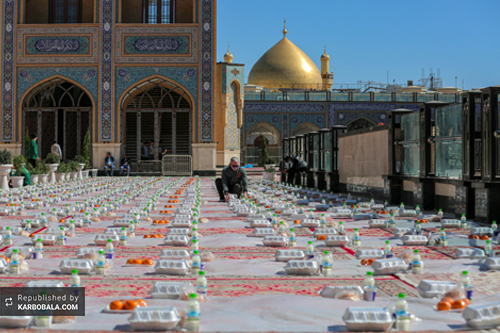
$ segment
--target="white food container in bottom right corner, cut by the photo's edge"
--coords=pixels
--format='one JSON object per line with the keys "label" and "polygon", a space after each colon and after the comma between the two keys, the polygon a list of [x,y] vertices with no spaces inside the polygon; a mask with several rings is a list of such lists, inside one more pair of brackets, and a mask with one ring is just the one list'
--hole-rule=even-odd
{"label": "white food container in bottom right corner, cut by the photo's edge", "polygon": [[500,302],[469,305],[462,312],[462,317],[472,328],[497,327],[500,325]]}

